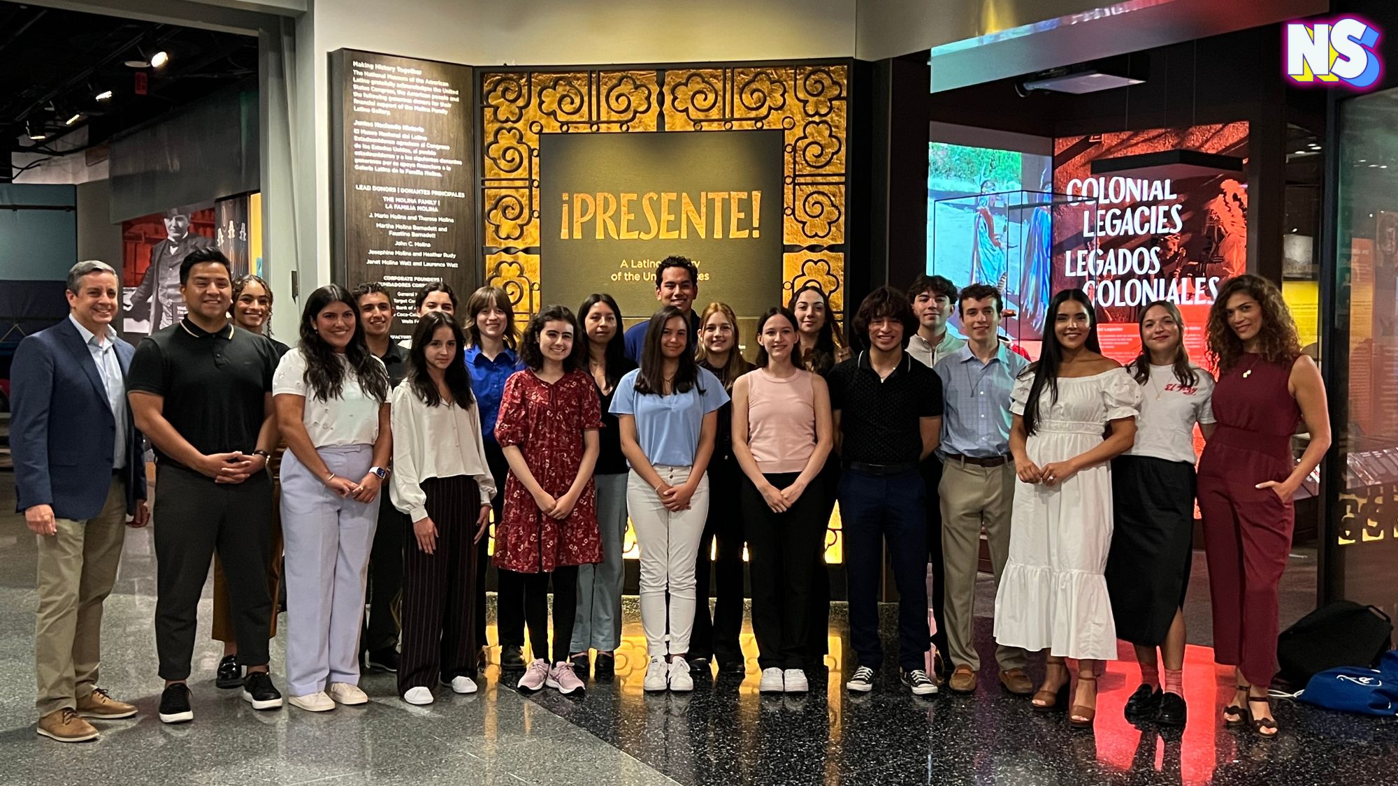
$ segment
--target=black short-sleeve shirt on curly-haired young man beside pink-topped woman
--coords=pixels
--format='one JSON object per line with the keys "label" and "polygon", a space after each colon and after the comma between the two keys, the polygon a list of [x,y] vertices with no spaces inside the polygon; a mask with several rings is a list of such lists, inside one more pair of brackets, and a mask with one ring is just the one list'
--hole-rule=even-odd
{"label": "black short-sleeve shirt on curly-haired young man beside pink-topped woman", "polygon": [[840,459],[895,464],[921,457],[918,420],[942,414],[937,372],[903,352],[893,373],[879,379],[865,351],[837,364],[825,379],[830,408],[840,413]]}

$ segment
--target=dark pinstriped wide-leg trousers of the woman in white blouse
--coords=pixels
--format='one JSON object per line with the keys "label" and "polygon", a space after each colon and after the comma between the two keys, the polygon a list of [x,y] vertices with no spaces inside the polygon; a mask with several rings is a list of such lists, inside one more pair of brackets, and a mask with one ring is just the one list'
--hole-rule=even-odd
{"label": "dark pinstriped wide-leg trousers of the woman in white blouse", "polygon": [[[403,655],[398,695],[431,688],[438,680],[475,677],[475,575],[480,572],[475,516],[481,490],[467,476],[422,481],[426,509],[436,524],[436,550],[417,538],[403,555]],[[484,540],[484,538],[482,538]]]}

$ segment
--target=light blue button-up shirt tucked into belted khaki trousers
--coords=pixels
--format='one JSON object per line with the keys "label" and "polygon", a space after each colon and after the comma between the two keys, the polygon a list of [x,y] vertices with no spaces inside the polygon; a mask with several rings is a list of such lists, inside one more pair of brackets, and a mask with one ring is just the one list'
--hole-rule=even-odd
{"label": "light blue button-up shirt tucked into belted khaki trousers", "polygon": [[932,366],[942,378],[942,442],[937,452],[973,459],[1008,455],[1009,393],[1028,365],[1001,343],[987,364],[966,345]]}

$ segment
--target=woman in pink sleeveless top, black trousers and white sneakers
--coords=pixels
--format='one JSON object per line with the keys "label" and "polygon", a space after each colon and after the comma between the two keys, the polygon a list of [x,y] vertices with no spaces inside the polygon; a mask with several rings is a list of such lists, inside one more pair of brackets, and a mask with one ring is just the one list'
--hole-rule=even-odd
{"label": "woman in pink sleeveless top, black trousers and white sneakers", "polygon": [[821,474],[835,443],[825,379],[805,371],[795,316],[758,320],[758,368],[733,386],[733,455],[752,578],[752,634],[763,692],[805,692],[809,606],[825,543]]}

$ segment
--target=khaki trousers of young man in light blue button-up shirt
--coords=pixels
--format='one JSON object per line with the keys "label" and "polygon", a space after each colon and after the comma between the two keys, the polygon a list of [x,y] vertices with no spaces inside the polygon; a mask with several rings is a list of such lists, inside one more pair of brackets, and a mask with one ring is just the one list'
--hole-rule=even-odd
{"label": "khaki trousers of young man in light blue button-up shirt", "polygon": [[[1000,573],[1009,558],[1009,516],[1015,502],[1015,464],[980,467],[956,459],[942,462],[942,572],[946,596],[942,604],[946,646],[952,667],[980,670],[980,655],[973,639],[976,606],[976,571],[980,564],[980,530],[990,544],[990,565],[1000,585]],[[1001,669],[1023,669],[1025,650],[995,648]]]}

